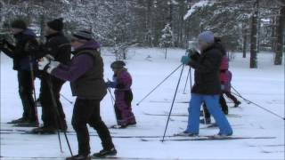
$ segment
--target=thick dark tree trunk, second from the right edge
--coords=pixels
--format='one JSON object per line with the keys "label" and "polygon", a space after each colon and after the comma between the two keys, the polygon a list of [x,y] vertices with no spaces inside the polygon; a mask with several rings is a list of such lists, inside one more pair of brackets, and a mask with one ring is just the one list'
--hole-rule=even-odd
{"label": "thick dark tree trunk, second from the right edge", "polygon": [[254,4],[254,12],[251,17],[251,30],[250,30],[250,68],[257,68],[257,20],[258,20],[258,7],[259,0]]}

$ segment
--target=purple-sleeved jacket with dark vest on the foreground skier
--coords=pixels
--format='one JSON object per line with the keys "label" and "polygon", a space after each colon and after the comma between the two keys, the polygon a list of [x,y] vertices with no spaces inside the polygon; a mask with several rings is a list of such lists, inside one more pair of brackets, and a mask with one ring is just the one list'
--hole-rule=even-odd
{"label": "purple-sleeved jacket with dark vest on the foreground skier", "polygon": [[107,93],[103,60],[99,44],[94,40],[77,48],[70,64],[54,68],[52,75],[70,81],[73,96],[81,99],[102,100]]}

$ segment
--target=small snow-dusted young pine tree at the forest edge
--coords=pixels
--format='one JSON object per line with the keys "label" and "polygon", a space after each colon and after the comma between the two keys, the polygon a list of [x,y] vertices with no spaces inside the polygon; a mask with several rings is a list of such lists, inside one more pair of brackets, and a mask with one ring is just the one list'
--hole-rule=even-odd
{"label": "small snow-dusted young pine tree at the forest edge", "polygon": [[162,33],[162,35],[161,35],[161,38],[159,40],[159,42],[160,42],[159,45],[160,45],[160,47],[166,48],[165,59],[167,59],[167,48],[169,48],[173,45],[173,32],[172,32],[172,29],[171,29],[169,23],[167,23],[165,28],[162,29],[161,33]]}

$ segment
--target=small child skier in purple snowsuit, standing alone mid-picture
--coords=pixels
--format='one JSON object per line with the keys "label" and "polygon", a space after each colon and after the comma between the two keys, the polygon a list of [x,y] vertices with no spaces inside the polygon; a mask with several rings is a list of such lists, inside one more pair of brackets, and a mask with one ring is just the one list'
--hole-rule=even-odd
{"label": "small child skier in purple snowsuit, standing alone mid-picture", "polygon": [[113,82],[107,82],[107,86],[115,88],[115,113],[118,126],[115,128],[126,128],[136,124],[134,113],[132,112],[133,92],[131,90],[132,76],[125,68],[124,61],[114,61],[110,68],[114,71]]}

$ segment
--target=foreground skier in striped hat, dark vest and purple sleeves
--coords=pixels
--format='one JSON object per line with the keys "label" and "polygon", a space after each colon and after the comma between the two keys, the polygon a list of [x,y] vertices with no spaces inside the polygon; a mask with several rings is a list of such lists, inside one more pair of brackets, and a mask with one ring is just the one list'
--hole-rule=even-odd
{"label": "foreground skier in striped hat, dark vest and purple sleeves", "polygon": [[94,127],[102,140],[102,151],[93,156],[115,156],[117,150],[111,140],[110,132],[100,116],[100,102],[107,93],[103,80],[100,45],[94,41],[92,33],[85,30],[73,33],[71,45],[75,51],[69,65],[49,60],[46,57],[38,64],[39,69],[45,70],[52,76],[70,81],[72,94],[77,96],[73,109],[72,126],[77,132],[78,155],[66,159],[91,159],[86,124]]}

